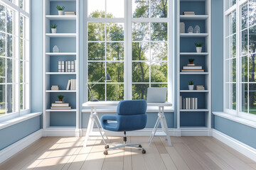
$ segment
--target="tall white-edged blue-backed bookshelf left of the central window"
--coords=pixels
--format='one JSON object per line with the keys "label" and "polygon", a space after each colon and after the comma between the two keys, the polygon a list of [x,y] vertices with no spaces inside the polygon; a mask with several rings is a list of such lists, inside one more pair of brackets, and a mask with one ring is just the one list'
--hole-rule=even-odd
{"label": "tall white-edged blue-backed bookshelf left of the central window", "polygon": [[[56,4],[60,6],[65,6],[65,3],[74,3],[74,6],[72,7],[73,10],[76,12],[76,16],[58,16],[58,11],[55,8]],[[63,5],[64,4],[64,5]],[[66,8],[69,8],[68,4],[65,6]],[[66,9],[65,8],[65,9]],[[70,7],[71,8],[71,7]],[[54,11],[53,11],[54,9]],[[67,9],[68,10],[68,9]],[[73,22],[75,24],[75,30],[74,27],[70,29],[71,33],[65,33],[65,31],[60,31],[58,33],[51,33],[50,31],[50,23],[52,22],[58,22],[60,25],[62,22]],[[60,28],[60,26],[58,26]],[[64,32],[64,33],[63,33]],[[70,52],[52,52],[53,44],[60,41],[56,38],[61,38],[61,41],[63,38],[73,38],[75,40],[75,52],[72,50]],[[63,41],[65,42],[65,41]],[[63,44],[62,42],[62,44]],[[74,44],[74,43],[73,43]],[[67,43],[66,46],[69,44]],[[79,105],[79,0],[43,0],[43,132],[44,135],[58,135],[58,132],[61,133],[65,132],[65,135],[80,135],[80,128],[79,128],[79,111],[80,111],[80,105]],[[63,47],[64,48],[64,47]],[[61,48],[60,48],[61,49]],[[65,59],[64,59],[65,57]],[[75,72],[58,72],[58,60],[76,60],[76,70]],[[51,63],[51,61],[54,61],[54,63]],[[52,68],[55,67],[55,68]],[[57,72],[55,71],[57,70]],[[67,84],[63,81],[60,82],[60,84],[54,82],[51,77],[56,77],[58,79],[76,79],[76,90],[66,90],[65,88],[60,89],[59,91],[52,91],[50,90],[51,85],[62,85],[67,86]],[[58,81],[57,81],[58,82]],[[53,110],[50,109],[50,105],[52,102],[54,102],[55,98],[57,98],[58,95],[64,94],[65,95],[71,95],[70,98],[65,98],[66,102],[72,101],[73,106],[69,110]],[[52,123],[51,121],[51,114],[58,113],[55,116],[58,116],[58,118],[55,118],[55,121],[58,120],[57,123]],[[75,114],[74,114],[75,113]],[[75,120],[75,125],[61,125],[63,123],[63,116],[62,114],[65,114],[68,116],[73,116],[72,119]],[[70,114],[70,115],[69,115]],[[68,117],[70,118],[70,117]],[[67,118],[66,118],[67,119]]]}

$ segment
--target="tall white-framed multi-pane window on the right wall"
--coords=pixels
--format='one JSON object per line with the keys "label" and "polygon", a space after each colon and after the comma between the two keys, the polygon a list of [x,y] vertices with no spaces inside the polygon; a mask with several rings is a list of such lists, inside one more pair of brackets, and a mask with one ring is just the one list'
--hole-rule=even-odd
{"label": "tall white-framed multi-pane window on the right wall", "polygon": [[256,0],[228,4],[225,11],[225,111],[256,120]]}

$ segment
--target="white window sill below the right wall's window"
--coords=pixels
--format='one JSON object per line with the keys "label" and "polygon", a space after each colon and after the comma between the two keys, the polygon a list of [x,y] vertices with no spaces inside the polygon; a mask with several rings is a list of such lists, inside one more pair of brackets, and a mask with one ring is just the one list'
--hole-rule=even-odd
{"label": "white window sill below the right wall's window", "polygon": [[221,118],[226,118],[226,119],[229,119],[229,120],[233,120],[237,123],[241,123],[243,125],[247,125],[247,126],[250,126],[252,128],[256,128],[256,122],[254,122],[252,120],[247,120],[245,118],[240,118],[238,116],[230,115],[228,113],[223,113],[223,112],[213,112],[213,115],[218,115]]}

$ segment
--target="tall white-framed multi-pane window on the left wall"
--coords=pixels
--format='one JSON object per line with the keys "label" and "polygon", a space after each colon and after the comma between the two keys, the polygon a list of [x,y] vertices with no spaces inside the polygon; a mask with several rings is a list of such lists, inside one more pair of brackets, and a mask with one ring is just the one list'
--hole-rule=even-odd
{"label": "tall white-framed multi-pane window on the left wall", "polygon": [[29,1],[0,2],[0,115],[29,109]]}

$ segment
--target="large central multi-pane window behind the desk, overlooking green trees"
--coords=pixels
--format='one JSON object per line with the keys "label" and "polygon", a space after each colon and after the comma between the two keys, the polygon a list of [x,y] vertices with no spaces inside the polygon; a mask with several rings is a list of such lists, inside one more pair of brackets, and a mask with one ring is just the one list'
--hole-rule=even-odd
{"label": "large central multi-pane window behind the desk, overlooking green trees", "polygon": [[[171,101],[169,4],[168,0],[87,0],[87,84],[89,89],[95,84],[94,98],[146,99],[148,87],[164,86]],[[107,73],[112,81],[100,79]]]}

